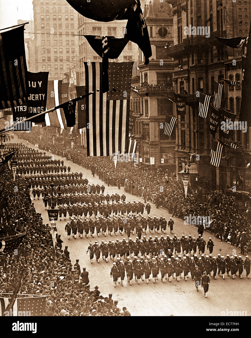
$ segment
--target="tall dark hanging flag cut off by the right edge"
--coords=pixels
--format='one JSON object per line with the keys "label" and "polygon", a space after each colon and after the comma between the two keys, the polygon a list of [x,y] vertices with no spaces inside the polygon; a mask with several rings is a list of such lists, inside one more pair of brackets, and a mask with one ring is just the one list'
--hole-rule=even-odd
{"label": "tall dark hanging flag cut off by the right edge", "polygon": [[251,127],[251,24],[247,41],[246,58],[244,61],[244,76],[242,80],[242,100],[239,121],[247,121],[247,126]]}

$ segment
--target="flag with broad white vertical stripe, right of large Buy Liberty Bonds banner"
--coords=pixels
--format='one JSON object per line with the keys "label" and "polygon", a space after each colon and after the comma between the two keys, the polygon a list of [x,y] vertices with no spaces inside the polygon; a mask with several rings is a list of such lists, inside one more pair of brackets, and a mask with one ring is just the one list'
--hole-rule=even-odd
{"label": "flag with broad white vertical stripe, right of large Buy Liberty Bonds banner", "polygon": [[[62,83],[63,80],[50,80],[47,87],[46,110],[54,108],[68,101],[69,83]],[[66,119],[63,108],[45,114],[45,123],[47,126],[66,129]]]}

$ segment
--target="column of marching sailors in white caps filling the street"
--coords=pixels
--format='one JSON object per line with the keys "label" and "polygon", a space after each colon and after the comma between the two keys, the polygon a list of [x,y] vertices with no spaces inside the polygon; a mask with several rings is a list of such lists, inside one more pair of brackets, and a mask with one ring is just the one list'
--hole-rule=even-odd
{"label": "column of marching sailors in white caps filling the street", "polygon": [[[209,276],[216,279],[217,274],[225,279],[225,273],[234,279],[239,274],[242,279],[242,273],[246,270],[247,278],[250,273],[250,260],[246,256],[245,260],[241,256],[233,255],[226,257],[218,254],[212,255],[214,243],[209,238],[208,243],[199,234],[198,238],[182,235],[181,238],[174,234],[161,235],[160,238],[153,235],[153,232],[165,234],[167,228],[172,229],[174,221],[170,217],[168,223],[163,216],[160,218],[150,216],[151,206],[141,201],[135,200],[131,203],[126,202],[126,196],[117,193],[104,195],[105,187],[103,185],[89,184],[88,179],[83,178],[82,172],[70,172],[63,161],[54,159],[53,156],[46,155],[26,146],[19,149],[21,160],[18,160],[17,174],[23,175],[29,180],[30,188],[34,199],[43,198],[45,209],[47,206],[58,206],[60,221],[69,215],[70,221],[65,225],[65,231],[68,240],[76,239],[85,235],[91,238],[95,233],[97,237],[117,237],[126,234],[123,240],[116,239],[112,241],[102,240],[89,243],[87,254],[90,256],[90,262],[93,263],[95,255],[97,263],[100,256],[107,263],[108,256],[113,260],[111,277],[114,280],[114,286],[117,282],[123,286],[125,272],[127,283],[132,285],[133,276],[137,284],[140,280],[146,283],[150,281],[152,275],[153,283],[158,280],[159,273],[161,281],[164,283],[168,279],[176,279],[177,282],[183,277],[187,281],[190,273],[191,279],[198,286],[201,284],[207,297]],[[50,185],[54,184],[53,195],[50,194]],[[143,216],[144,210],[147,211],[148,218]],[[89,219],[87,218],[89,216]],[[82,220],[82,218],[84,219]],[[147,229],[149,236],[147,237]],[[135,240],[130,237],[131,234],[137,235]],[[142,238],[142,234],[144,234]],[[154,237],[154,238],[153,238]],[[204,255],[205,248],[209,250],[209,255]],[[196,252],[198,250],[198,255]]]}

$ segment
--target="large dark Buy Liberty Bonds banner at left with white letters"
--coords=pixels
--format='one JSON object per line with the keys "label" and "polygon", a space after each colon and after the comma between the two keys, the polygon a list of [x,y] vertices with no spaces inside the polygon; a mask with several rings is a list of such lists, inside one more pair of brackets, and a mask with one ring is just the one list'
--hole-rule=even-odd
{"label": "large dark Buy Liberty Bonds banner at left with white letters", "polygon": [[[33,117],[46,110],[49,72],[28,72],[30,95],[27,102],[27,117]],[[44,122],[45,115],[35,117],[32,122]]]}

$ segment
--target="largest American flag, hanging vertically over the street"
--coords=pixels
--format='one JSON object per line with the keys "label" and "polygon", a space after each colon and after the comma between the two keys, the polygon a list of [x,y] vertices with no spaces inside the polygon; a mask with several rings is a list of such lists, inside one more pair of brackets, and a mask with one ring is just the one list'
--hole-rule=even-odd
{"label": "largest American flag, hanging vertically over the street", "polygon": [[[84,62],[86,92],[100,88],[102,63]],[[87,156],[128,152],[132,62],[111,62],[109,91],[86,98]]]}

